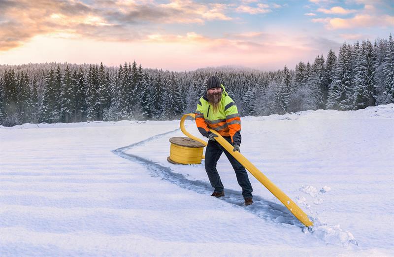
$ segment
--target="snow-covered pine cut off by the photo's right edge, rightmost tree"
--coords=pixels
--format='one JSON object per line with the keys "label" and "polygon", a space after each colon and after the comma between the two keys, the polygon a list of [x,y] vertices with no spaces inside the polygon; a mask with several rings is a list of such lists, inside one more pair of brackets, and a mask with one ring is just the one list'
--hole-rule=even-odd
{"label": "snow-covered pine cut off by the photo's right edge, rightmost tree", "polygon": [[386,50],[384,74],[384,103],[392,103],[394,102],[394,40],[391,34],[389,36],[389,45]]}

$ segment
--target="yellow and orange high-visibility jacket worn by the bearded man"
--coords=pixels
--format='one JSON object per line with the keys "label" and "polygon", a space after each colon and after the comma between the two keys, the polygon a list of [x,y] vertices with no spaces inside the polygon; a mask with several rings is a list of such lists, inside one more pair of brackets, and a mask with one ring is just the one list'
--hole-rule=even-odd
{"label": "yellow and orange high-visibility jacket worn by the bearded man", "polygon": [[241,144],[241,119],[234,101],[222,87],[222,98],[215,113],[208,102],[206,93],[197,104],[196,124],[198,131],[207,136],[209,129],[216,130],[222,136],[230,136],[233,144]]}

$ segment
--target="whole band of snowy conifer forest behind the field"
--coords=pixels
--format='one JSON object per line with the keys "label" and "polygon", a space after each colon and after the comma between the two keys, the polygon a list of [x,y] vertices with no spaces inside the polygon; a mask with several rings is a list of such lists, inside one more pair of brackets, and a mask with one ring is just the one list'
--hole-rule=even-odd
{"label": "whole band of snowy conifer forest behind the field", "polygon": [[169,120],[194,112],[217,75],[242,116],[302,110],[356,110],[394,102],[394,43],[344,43],[295,70],[231,67],[170,72],[135,62],[0,65],[0,124]]}

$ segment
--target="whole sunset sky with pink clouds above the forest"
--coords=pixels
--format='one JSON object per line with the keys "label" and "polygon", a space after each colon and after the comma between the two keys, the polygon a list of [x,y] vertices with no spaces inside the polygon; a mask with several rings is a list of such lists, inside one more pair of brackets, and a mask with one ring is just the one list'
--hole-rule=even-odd
{"label": "whole sunset sky with pink clouds above the forest", "polygon": [[393,0],[0,0],[0,64],[277,70],[393,32]]}

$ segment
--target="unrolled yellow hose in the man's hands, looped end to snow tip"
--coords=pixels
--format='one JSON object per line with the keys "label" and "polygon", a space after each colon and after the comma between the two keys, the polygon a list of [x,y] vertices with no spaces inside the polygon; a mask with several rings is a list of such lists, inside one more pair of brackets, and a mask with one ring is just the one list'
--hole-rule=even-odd
{"label": "unrolled yellow hose in the man's hands, looped end to snow tip", "polygon": [[[201,142],[206,146],[207,143],[205,141],[193,136],[188,131],[186,131],[183,123],[187,116],[195,118],[195,114],[193,113],[185,114],[182,116],[180,125],[182,132],[188,137],[197,140],[198,142]],[[237,161],[239,161],[250,173],[252,173],[252,175],[257,180],[259,180],[263,184],[263,186],[269,190],[269,192],[275,195],[275,197],[278,198],[278,200],[281,201],[302,224],[306,226],[313,226],[313,223],[309,220],[308,216],[301,210],[301,208],[298,207],[298,205],[296,205],[296,203],[289,196],[287,196],[277,186],[275,186],[274,183],[272,183],[255,165],[253,165],[252,162],[246,159],[240,152],[233,152],[232,145],[226,139],[224,139],[223,136],[221,136],[213,129],[210,130],[212,133],[218,135],[218,137],[216,137],[216,141],[218,141],[219,144],[221,144]]]}

